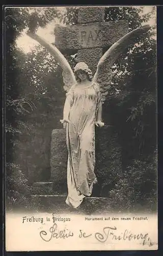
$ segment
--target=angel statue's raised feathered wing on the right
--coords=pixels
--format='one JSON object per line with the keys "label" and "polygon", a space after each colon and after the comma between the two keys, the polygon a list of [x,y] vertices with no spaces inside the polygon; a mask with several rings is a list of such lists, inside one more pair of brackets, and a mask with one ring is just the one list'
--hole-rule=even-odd
{"label": "angel statue's raised feathered wing on the right", "polygon": [[106,99],[108,89],[111,87],[111,68],[115,61],[119,55],[134,41],[135,37],[148,31],[150,28],[150,26],[145,25],[132,30],[115,42],[115,44],[113,44],[100,58],[93,80],[100,84],[102,103]]}

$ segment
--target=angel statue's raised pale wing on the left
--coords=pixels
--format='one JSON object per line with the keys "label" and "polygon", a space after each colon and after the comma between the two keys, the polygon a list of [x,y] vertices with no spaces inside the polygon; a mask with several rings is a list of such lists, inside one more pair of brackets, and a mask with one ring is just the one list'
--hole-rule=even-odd
{"label": "angel statue's raised pale wing on the left", "polygon": [[76,82],[73,71],[67,61],[67,59],[63,56],[63,54],[57,49],[56,46],[49,44],[45,39],[38,36],[35,32],[29,31],[27,33],[31,38],[35,39],[40,43],[40,45],[44,46],[57,60],[59,65],[61,66],[63,72],[63,81],[64,81],[64,90],[66,92],[69,91],[70,87]]}

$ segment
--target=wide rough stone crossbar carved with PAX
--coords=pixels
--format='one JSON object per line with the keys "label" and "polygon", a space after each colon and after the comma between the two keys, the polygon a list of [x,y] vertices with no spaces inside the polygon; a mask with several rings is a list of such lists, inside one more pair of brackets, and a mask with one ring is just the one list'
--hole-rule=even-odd
{"label": "wide rough stone crossbar carved with PAX", "polygon": [[128,32],[127,20],[55,27],[60,50],[110,47]]}

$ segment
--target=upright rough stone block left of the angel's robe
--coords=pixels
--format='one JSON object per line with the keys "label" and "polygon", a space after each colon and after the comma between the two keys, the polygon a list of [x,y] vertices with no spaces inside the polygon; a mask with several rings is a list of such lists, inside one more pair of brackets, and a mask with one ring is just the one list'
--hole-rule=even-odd
{"label": "upright rough stone block left of the angel's robe", "polygon": [[55,129],[51,133],[51,178],[53,190],[67,191],[67,146],[65,129]]}

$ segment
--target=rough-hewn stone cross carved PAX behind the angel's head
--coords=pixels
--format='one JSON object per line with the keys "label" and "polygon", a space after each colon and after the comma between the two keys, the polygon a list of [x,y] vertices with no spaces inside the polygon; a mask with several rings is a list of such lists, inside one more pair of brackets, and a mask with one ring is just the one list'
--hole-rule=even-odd
{"label": "rough-hewn stone cross carved PAX behind the angel's head", "polygon": [[78,61],[87,63],[93,74],[103,48],[128,32],[127,20],[104,21],[104,7],[80,7],[77,25],[55,28],[55,45],[63,54],[77,52]]}

